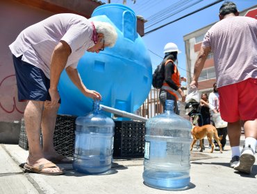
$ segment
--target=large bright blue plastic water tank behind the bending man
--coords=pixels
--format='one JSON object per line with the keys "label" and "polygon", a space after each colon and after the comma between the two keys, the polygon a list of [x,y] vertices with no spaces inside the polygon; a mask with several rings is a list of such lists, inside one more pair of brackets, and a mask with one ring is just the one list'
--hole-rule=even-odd
{"label": "large bright blue plastic water tank behind the bending man", "polygon": [[[96,8],[90,20],[113,24],[118,38],[113,48],[83,55],[78,62],[81,79],[88,89],[99,91],[102,105],[135,112],[147,98],[152,80],[151,59],[137,33],[135,12],[121,4],[109,3]],[[91,111],[92,99],[83,96],[65,71],[58,89],[62,98],[60,114],[82,116]]]}

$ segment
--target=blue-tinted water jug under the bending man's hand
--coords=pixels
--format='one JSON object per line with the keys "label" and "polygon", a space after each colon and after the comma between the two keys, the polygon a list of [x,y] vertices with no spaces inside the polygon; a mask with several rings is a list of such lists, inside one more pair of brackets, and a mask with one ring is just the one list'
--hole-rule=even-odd
{"label": "blue-tinted water jug under the bending man's hand", "polygon": [[87,116],[76,118],[73,168],[79,173],[101,174],[110,170],[113,157],[113,119],[101,112],[99,100]]}

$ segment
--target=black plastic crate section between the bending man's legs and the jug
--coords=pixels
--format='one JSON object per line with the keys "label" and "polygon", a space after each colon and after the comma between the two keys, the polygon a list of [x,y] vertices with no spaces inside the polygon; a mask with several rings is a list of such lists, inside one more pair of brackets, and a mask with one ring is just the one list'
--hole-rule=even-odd
{"label": "black plastic crate section between the bending man's legs and the jug", "polygon": [[56,151],[65,157],[73,157],[76,129],[76,116],[58,114],[53,145]]}

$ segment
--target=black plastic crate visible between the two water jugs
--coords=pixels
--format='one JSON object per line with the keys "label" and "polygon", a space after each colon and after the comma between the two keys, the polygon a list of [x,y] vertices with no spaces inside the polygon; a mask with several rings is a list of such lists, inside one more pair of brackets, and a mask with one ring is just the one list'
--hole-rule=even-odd
{"label": "black plastic crate visible between the two water jugs", "polygon": [[144,134],[144,122],[115,121],[113,157],[143,157]]}

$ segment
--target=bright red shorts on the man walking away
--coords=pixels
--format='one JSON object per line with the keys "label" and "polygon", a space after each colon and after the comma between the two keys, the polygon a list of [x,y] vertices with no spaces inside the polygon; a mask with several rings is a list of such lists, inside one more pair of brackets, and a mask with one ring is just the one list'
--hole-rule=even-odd
{"label": "bright red shorts on the man walking away", "polygon": [[233,123],[257,118],[257,78],[219,87],[219,109],[222,119]]}

